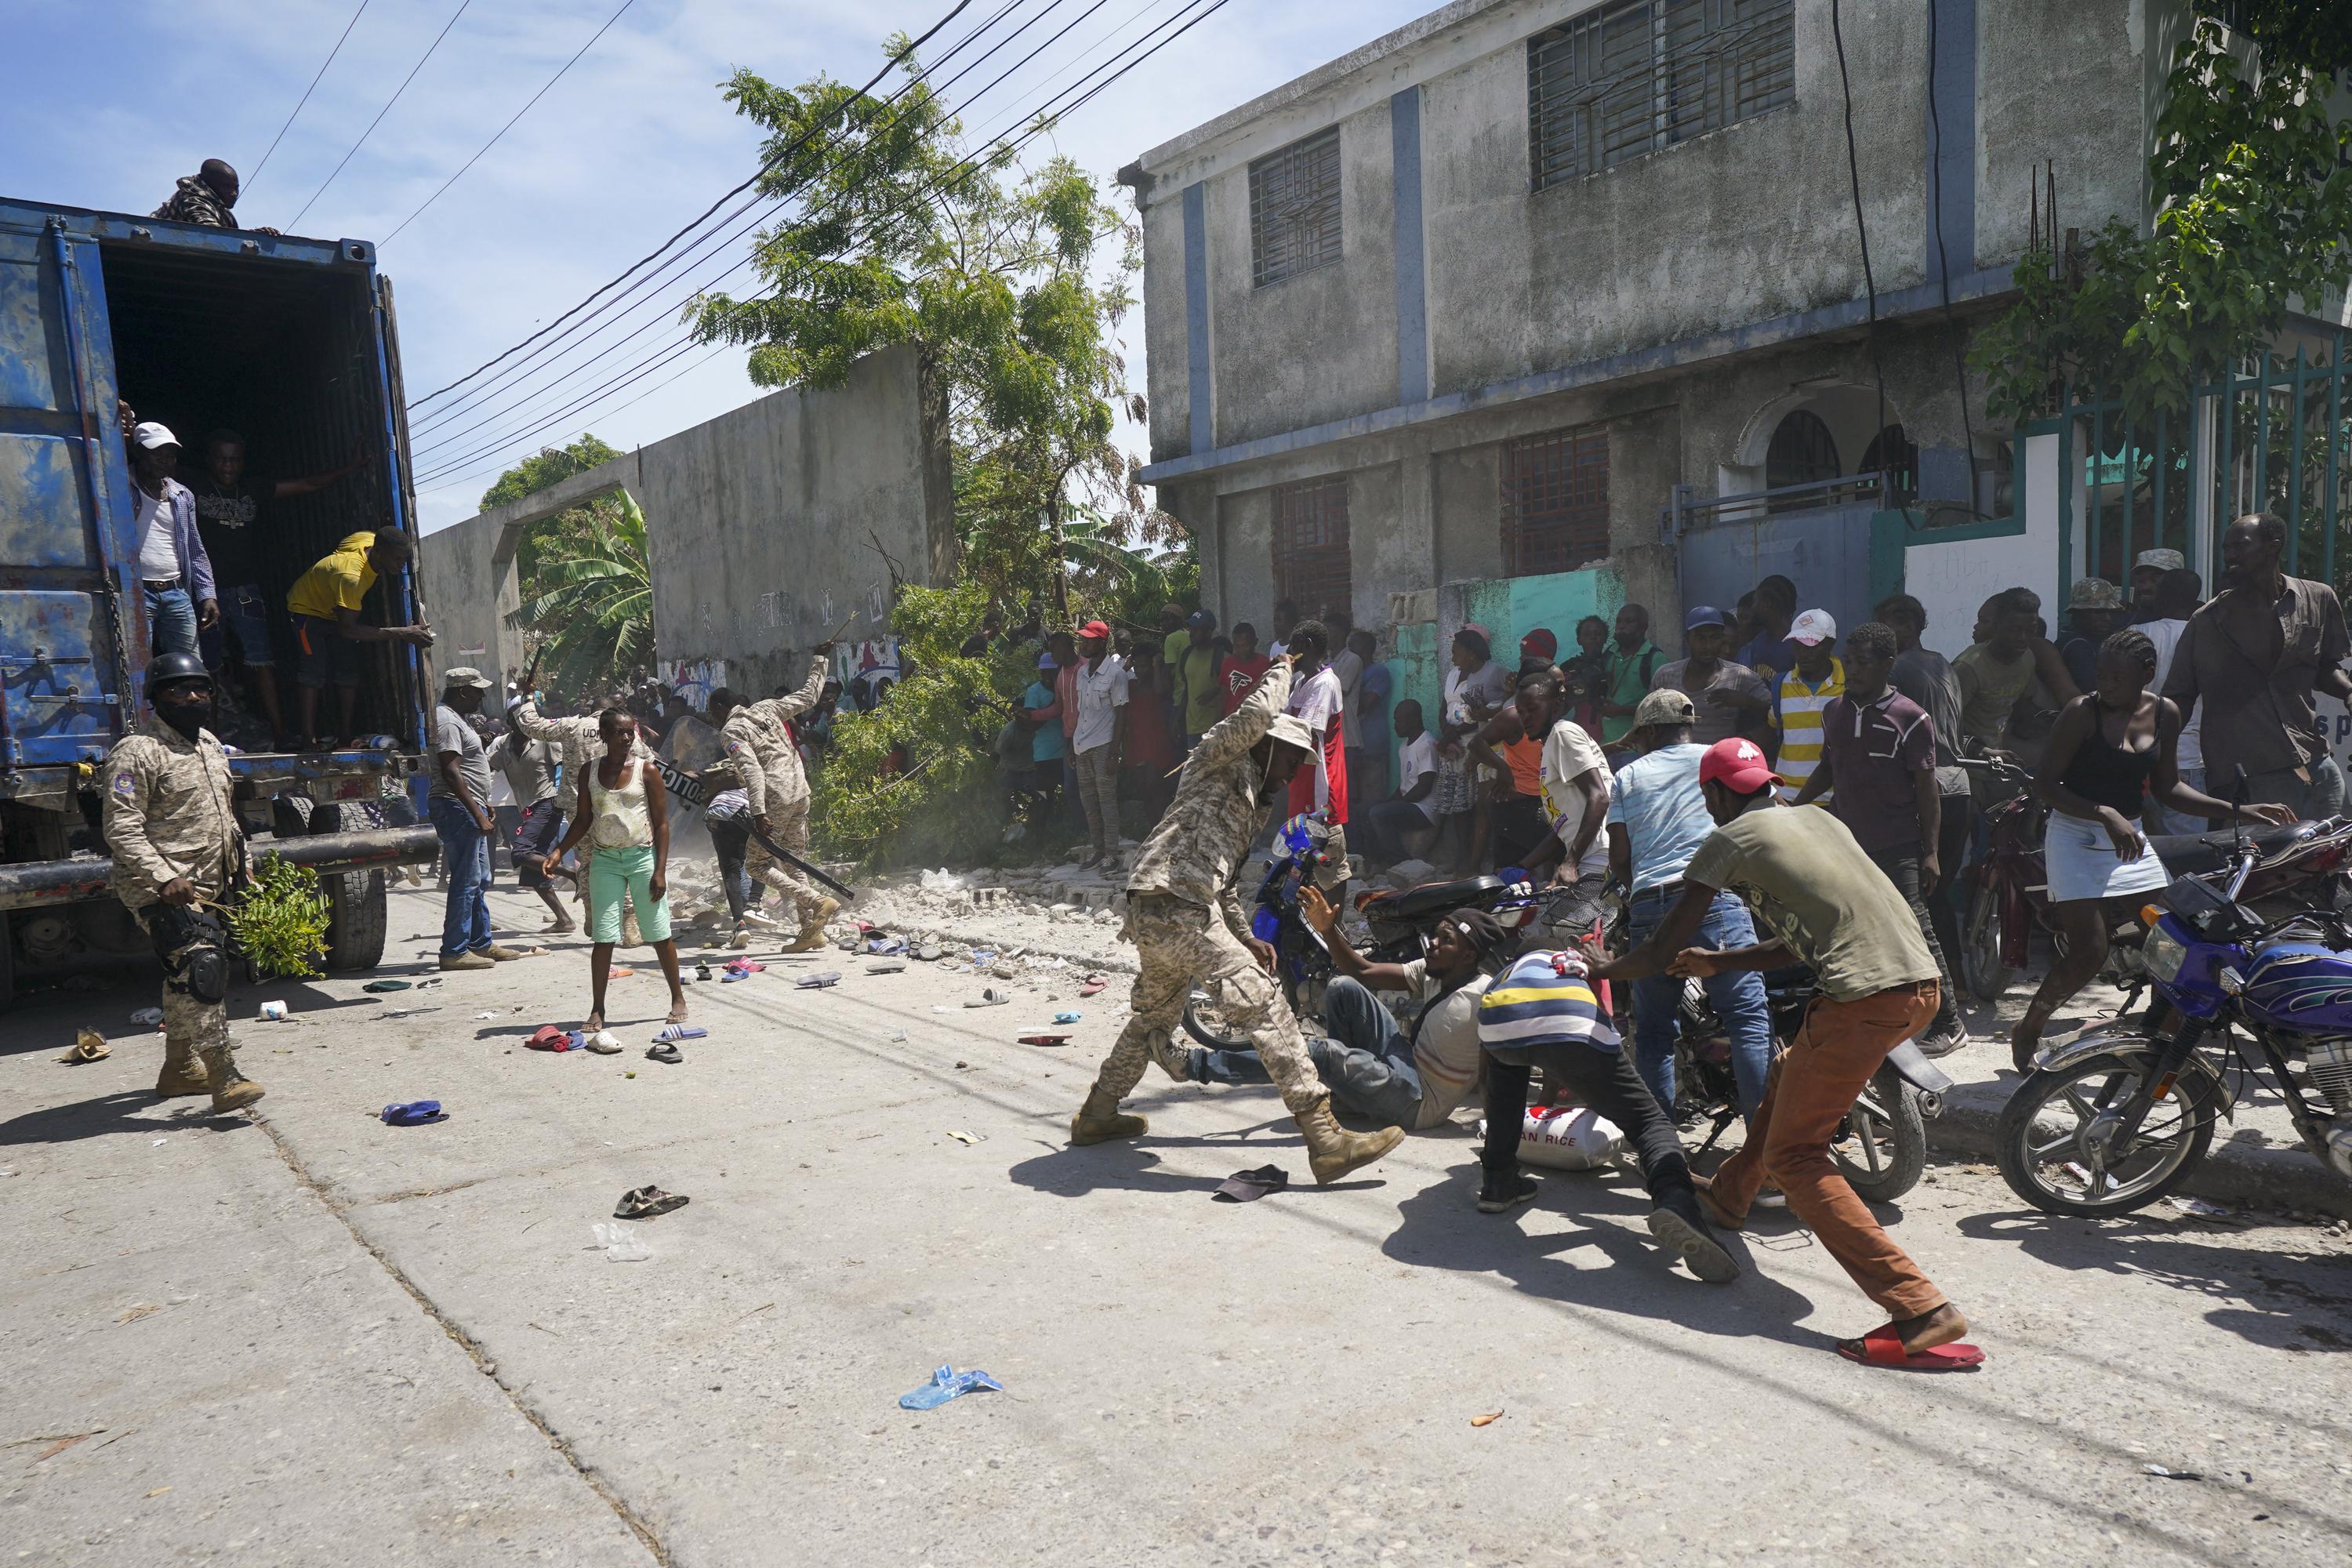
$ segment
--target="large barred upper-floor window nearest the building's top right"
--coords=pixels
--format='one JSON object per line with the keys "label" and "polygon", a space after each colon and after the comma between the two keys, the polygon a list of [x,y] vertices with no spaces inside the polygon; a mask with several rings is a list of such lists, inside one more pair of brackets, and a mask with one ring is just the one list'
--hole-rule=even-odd
{"label": "large barred upper-floor window nearest the building's top right", "polygon": [[1623,0],[1526,40],[1534,188],[1797,101],[1795,0]]}

